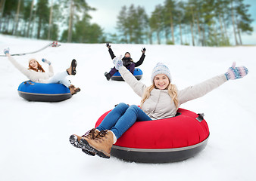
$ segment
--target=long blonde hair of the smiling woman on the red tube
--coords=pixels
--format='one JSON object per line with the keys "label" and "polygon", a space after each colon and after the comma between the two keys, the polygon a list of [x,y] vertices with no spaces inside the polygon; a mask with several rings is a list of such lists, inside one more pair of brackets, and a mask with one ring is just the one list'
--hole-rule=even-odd
{"label": "long blonde hair of the smiling woman on the red tube", "polygon": [[[155,88],[155,84],[151,84],[151,86],[149,86],[145,89],[145,92],[142,96],[142,100],[140,102],[140,107],[141,108],[142,108],[143,103],[145,103],[145,100],[147,100],[148,97],[150,96],[151,90],[153,90],[154,88]],[[179,100],[178,100],[176,85],[175,84],[169,84],[167,89],[168,89],[168,94],[170,95],[174,105],[176,106],[176,109],[178,109],[179,108]]]}

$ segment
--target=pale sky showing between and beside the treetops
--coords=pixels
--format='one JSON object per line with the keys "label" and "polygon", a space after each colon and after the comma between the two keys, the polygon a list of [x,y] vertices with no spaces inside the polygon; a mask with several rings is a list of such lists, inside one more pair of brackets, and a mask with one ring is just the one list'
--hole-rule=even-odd
{"label": "pale sky showing between and beside the treetops", "polygon": [[[117,25],[117,16],[120,13],[121,8],[126,5],[141,6],[145,8],[148,16],[155,10],[156,5],[164,5],[165,0],[86,0],[86,2],[92,8],[96,8],[97,11],[90,11],[89,14],[92,16],[92,23],[97,23],[105,32],[114,33]],[[249,13],[251,14],[254,22],[253,35],[243,35],[243,44],[256,44],[256,0],[245,0],[245,4],[251,5]]]}

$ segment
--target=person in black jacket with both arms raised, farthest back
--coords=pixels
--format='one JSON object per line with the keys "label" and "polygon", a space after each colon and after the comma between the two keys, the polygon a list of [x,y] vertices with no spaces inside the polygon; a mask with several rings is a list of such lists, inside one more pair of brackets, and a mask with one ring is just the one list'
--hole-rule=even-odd
{"label": "person in black jacket with both arms raised, farthest back", "polygon": [[[111,59],[114,59],[114,57],[116,56],[114,55],[114,52],[111,49],[111,45],[107,43],[107,47],[108,47],[108,52],[111,55]],[[135,67],[142,65],[144,59],[145,59],[145,48],[142,49],[142,57],[140,57],[139,61],[136,63],[133,62],[133,59],[131,58],[130,53],[126,52],[124,54],[124,57],[122,58],[123,66],[125,66],[126,69],[129,69],[130,72],[133,74]],[[115,67],[112,68],[110,72],[105,72],[105,77],[107,78],[108,81],[114,75],[115,72],[117,72],[117,69]]]}

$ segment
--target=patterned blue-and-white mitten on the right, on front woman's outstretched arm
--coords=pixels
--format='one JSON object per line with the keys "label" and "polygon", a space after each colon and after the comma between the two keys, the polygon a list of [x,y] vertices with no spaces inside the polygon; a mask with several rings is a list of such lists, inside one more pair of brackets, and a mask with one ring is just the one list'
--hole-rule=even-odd
{"label": "patterned blue-and-white mitten on the right, on front woman's outstretched arm", "polygon": [[229,69],[227,69],[226,80],[235,80],[239,78],[243,78],[248,74],[248,69],[245,66],[236,66],[236,62],[233,63]]}

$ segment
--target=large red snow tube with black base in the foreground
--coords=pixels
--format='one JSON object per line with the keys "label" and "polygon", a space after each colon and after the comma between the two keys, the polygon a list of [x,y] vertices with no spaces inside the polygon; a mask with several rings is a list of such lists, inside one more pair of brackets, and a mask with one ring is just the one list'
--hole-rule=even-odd
{"label": "large red snow tube with black base in the foreground", "polygon": [[[98,118],[95,127],[108,112]],[[111,155],[142,163],[183,161],[201,152],[208,137],[208,124],[202,115],[178,109],[173,118],[133,124],[114,144]]]}

